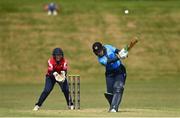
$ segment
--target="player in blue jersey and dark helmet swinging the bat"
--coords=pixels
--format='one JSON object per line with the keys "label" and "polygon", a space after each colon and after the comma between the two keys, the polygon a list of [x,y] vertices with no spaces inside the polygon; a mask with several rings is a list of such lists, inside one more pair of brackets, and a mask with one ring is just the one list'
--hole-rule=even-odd
{"label": "player in blue jersey and dark helmet swinging the bat", "polygon": [[102,45],[100,42],[95,42],[92,49],[99,63],[106,68],[107,93],[104,95],[110,104],[109,112],[118,112],[126,81],[126,69],[121,59],[128,56],[128,51],[124,48],[119,50],[111,45]]}

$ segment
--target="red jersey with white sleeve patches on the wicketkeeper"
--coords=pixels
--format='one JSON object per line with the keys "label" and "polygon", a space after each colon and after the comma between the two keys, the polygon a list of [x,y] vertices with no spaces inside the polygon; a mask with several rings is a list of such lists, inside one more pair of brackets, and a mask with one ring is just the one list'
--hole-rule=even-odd
{"label": "red jersey with white sleeve patches on the wicketkeeper", "polygon": [[48,60],[48,71],[47,75],[50,75],[53,71],[61,74],[61,71],[67,71],[67,61],[64,58],[61,58],[60,63],[58,64],[56,60],[51,57]]}

